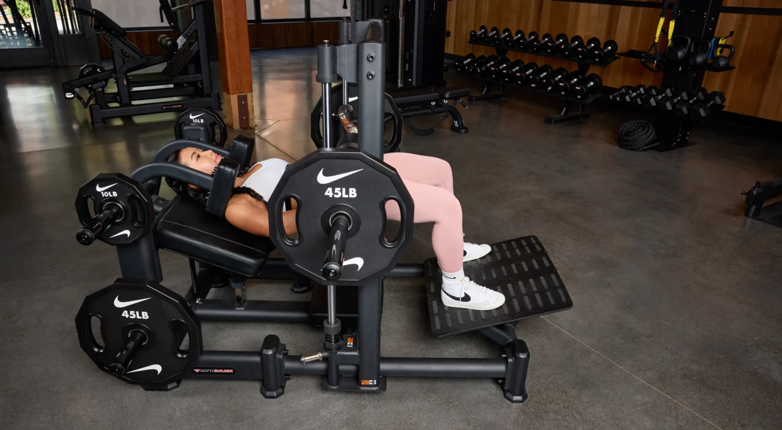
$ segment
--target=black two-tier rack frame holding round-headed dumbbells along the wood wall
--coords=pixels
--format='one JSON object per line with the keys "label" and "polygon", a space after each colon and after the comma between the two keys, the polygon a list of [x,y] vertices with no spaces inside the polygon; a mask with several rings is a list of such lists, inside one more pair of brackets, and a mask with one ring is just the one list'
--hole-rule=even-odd
{"label": "black two-tier rack frame holding round-headed dumbbells along the wood wall", "polygon": [[[543,57],[549,57],[555,59],[564,59],[566,61],[572,61],[574,63],[578,63],[579,72],[581,72],[585,77],[587,76],[587,71],[589,70],[590,66],[606,67],[608,66],[608,64],[611,64],[615,62],[617,59],[619,59],[619,57],[617,56],[612,56],[611,58],[606,59],[603,63],[595,63],[594,61],[591,60],[579,60],[579,59],[563,57],[563,56],[553,56],[547,52],[534,52],[529,49],[508,48],[507,46],[497,46],[489,43],[482,43],[480,41],[469,41],[469,44],[486,46],[487,48],[494,48],[497,51],[497,57],[508,56],[508,51],[514,51],[514,52],[522,52],[524,54],[532,54],[533,56],[543,56]],[[493,81],[491,79],[486,79],[485,77],[481,77],[481,79],[483,81],[483,91],[479,95],[469,96],[468,98],[469,101],[475,102],[477,100],[486,100],[486,99],[503,99],[511,95],[510,92],[505,91],[504,82]],[[490,92],[491,84],[499,84],[500,91]],[[536,94],[548,95],[554,97],[554,99],[561,99],[562,109],[559,115],[546,116],[546,118],[544,119],[546,124],[556,124],[564,121],[580,120],[582,118],[587,118],[588,116],[590,116],[590,114],[584,112],[584,105],[588,105],[591,102],[594,102],[595,100],[599,99],[602,95],[601,93],[598,92],[597,94],[590,95],[586,100],[579,100],[572,97],[563,97],[561,95],[554,94],[551,92],[533,90],[532,88],[527,88],[527,87],[520,87],[520,88],[525,88],[528,91],[534,91]],[[579,105],[578,112],[576,113],[570,112],[570,105],[569,105],[570,102],[578,103]]]}

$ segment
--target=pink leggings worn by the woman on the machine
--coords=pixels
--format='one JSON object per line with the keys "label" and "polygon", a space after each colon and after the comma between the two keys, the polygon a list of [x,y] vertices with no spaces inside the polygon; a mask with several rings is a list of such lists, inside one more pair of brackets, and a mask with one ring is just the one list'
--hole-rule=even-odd
{"label": "pink leggings worn by the woman on the machine", "polygon": [[[454,195],[454,176],[444,159],[392,152],[383,156],[402,177],[414,202],[414,222],[434,223],[432,248],[440,268],[446,272],[463,267],[461,203]],[[399,206],[386,204],[389,220],[400,220]]]}

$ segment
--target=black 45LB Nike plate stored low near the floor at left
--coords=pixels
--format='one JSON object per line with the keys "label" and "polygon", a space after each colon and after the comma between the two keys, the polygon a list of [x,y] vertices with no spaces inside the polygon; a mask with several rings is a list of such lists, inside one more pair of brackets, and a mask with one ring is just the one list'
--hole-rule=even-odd
{"label": "black 45LB Nike plate stored low near the floor at left", "polygon": [[[103,344],[95,339],[91,317],[101,321]],[[203,348],[201,322],[177,293],[156,282],[118,278],[84,298],[76,316],[81,349],[106,373],[125,348],[130,332],[149,335],[124,374],[130,384],[155,388],[178,381]],[[184,334],[189,348],[180,350]]]}

